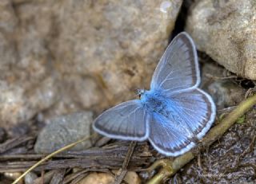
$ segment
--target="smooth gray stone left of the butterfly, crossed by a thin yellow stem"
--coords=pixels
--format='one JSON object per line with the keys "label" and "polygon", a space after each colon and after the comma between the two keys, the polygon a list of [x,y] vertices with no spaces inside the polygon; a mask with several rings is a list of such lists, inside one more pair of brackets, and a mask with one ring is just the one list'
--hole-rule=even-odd
{"label": "smooth gray stone left of the butterfly, crossed by a thin yellow stem", "polygon": [[[39,133],[34,151],[36,153],[51,153],[69,143],[89,136],[92,121],[92,112],[76,112],[50,119],[46,127]],[[89,146],[90,141],[84,141],[70,150],[79,151]]]}

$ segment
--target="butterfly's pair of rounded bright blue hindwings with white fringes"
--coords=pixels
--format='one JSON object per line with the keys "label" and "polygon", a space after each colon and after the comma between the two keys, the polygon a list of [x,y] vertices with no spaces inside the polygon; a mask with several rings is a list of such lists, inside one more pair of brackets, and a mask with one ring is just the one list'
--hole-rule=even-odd
{"label": "butterfly's pair of rounded bright blue hindwings with white fringes", "polygon": [[175,92],[170,97],[170,118],[153,115],[149,121],[150,143],[164,155],[182,155],[194,147],[214,122],[215,105],[211,97],[195,88]]}

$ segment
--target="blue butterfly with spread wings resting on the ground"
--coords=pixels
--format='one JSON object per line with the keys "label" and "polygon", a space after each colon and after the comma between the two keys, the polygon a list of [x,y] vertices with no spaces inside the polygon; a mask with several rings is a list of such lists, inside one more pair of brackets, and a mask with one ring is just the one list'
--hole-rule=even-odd
{"label": "blue butterfly with spread wings resting on the ground", "polygon": [[149,139],[163,155],[182,155],[206,134],[216,113],[212,98],[198,88],[199,72],[192,38],[179,33],[159,61],[150,90],[103,112],[94,130],[113,139]]}

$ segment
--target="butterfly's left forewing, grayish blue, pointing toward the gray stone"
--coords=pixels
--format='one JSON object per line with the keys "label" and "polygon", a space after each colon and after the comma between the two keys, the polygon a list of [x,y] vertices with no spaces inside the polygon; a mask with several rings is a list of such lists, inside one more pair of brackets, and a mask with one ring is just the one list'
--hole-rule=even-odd
{"label": "butterfly's left forewing, grayish blue, pointing toward the gray stone", "polygon": [[94,120],[95,131],[113,139],[142,141],[148,137],[147,114],[139,100],[108,109]]}

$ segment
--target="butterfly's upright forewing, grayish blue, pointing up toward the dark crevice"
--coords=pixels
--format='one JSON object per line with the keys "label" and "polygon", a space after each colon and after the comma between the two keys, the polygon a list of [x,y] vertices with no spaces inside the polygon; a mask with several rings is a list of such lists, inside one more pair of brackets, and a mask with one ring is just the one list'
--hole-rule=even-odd
{"label": "butterfly's upright forewing, grayish blue, pointing up toward the dark crevice", "polygon": [[150,88],[173,92],[196,88],[199,83],[198,55],[194,42],[187,33],[179,33],[160,59]]}

